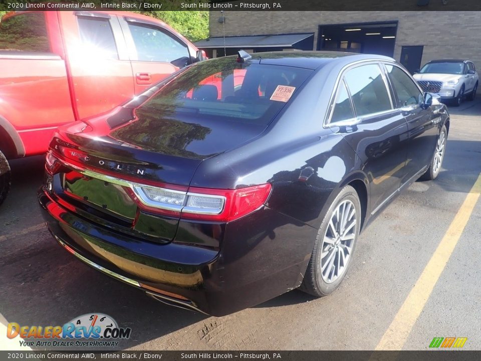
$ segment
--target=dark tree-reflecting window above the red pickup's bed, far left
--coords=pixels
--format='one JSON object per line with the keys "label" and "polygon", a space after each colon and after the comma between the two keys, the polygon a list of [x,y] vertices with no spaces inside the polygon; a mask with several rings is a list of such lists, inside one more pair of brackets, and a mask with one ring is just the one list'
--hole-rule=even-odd
{"label": "dark tree-reflecting window above the red pickup's bed, far left", "polygon": [[50,53],[44,13],[25,13],[0,23],[0,50]]}

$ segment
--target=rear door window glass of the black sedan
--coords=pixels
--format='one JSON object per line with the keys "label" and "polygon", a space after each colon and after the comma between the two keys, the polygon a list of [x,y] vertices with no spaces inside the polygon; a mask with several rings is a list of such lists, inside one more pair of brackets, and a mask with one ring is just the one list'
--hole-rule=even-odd
{"label": "rear door window glass of the black sedan", "polygon": [[379,65],[367,64],[348,70],[345,79],[357,116],[392,109]]}

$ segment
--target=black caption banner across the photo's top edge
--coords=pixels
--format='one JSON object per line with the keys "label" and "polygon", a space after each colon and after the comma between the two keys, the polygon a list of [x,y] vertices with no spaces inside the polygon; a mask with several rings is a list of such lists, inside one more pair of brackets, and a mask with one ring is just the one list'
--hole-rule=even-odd
{"label": "black caption banner across the photo's top edge", "polygon": [[0,0],[0,11],[479,11],[479,0]]}

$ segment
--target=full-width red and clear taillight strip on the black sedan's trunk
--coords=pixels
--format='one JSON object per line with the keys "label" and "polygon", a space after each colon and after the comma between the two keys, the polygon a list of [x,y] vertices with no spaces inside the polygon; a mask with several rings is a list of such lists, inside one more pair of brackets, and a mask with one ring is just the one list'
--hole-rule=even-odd
{"label": "full-width red and clear taillight strip on the black sedan's trunk", "polygon": [[74,167],[89,177],[96,177],[98,173],[99,179],[123,186],[140,209],[167,217],[231,222],[262,207],[272,188],[269,183],[236,190],[188,188],[149,180],[138,183],[139,179],[133,176],[117,178],[118,174],[112,171],[88,168],[81,161],[90,158],[84,151],[63,145],[58,145],[56,149],[61,155],[54,154],[52,150],[47,153],[46,169],[50,174],[55,174],[62,164]]}

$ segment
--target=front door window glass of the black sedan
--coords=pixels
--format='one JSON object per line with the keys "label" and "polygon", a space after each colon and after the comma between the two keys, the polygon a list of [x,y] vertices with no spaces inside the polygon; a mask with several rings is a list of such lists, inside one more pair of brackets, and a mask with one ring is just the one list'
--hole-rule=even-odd
{"label": "front door window glass of the black sedan", "polygon": [[406,73],[394,65],[386,65],[386,69],[399,99],[399,106],[405,107],[424,102],[422,93]]}

